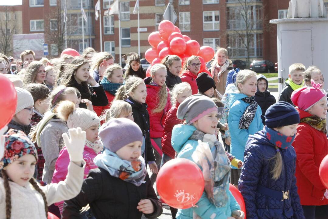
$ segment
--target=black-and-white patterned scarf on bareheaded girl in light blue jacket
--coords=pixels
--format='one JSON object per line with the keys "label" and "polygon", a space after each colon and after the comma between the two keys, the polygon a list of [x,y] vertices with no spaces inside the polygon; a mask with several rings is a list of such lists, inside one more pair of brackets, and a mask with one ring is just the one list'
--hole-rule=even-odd
{"label": "black-and-white patterned scarf on bareheaded girl in light blue jacket", "polygon": [[246,107],[243,115],[240,117],[239,129],[248,129],[251,122],[254,120],[257,110],[257,102],[255,101],[255,97],[245,97],[241,100],[245,103],[249,103],[249,106]]}

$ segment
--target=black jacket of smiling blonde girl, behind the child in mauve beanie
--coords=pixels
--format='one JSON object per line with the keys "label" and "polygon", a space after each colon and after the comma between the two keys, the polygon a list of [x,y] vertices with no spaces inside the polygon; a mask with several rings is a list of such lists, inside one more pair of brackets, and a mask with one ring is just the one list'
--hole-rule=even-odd
{"label": "black jacket of smiling blonde girl, behind the child in mauve beanie", "polygon": [[150,127],[149,127],[149,114],[146,103],[140,104],[134,101],[132,98],[125,100],[132,106],[133,120],[140,127],[144,137],[145,137],[145,152],[142,155],[146,161],[155,161],[154,151],[152,147],[152,142],[150,141]]}

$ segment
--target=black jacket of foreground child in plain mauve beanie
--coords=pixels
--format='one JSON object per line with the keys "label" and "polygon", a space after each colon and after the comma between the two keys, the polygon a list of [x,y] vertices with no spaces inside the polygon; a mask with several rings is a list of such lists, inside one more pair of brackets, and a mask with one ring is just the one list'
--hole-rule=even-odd
{"label": "black jacket of foreground child in plain mauve beanie", "polygon": [[162,204],[148,174],[145,181],[137,187],[111,176],[105,169],[92,169],[83,181],[80,194],[65,201],[63,219],[80,218],[79,210],[87,204],[97,219],[140,219],[142,212],[137,206],[141,199],[150,199],[154,205],[154,212],[145,216],[156,218],[162,214]]}

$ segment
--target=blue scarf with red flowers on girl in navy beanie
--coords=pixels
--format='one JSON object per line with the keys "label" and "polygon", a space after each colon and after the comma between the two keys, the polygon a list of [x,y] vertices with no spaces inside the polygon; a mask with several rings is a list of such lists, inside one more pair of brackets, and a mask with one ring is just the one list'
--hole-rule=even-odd
{"label": "blue scarf with red flowers on girl in navy beanie", "polygon": [[286,136],[280,134],[276,130],[267,126],[263,127],[263,133],[270,143],[281,149],[287,149],[289,146],[291,146],[296,136],[296,134],[294,136]]}

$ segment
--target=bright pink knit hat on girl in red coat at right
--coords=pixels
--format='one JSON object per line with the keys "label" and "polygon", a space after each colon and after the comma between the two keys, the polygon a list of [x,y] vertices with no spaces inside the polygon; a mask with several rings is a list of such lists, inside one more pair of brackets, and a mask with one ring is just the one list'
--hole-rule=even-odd
{"label": "bright pink knit hat on girl in red coat at right", "polygon": [[326,97],[326,94],[319,87],[298,88],[292,93],[290,99],[298,109],[308,111],[321,98]]}

